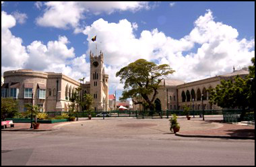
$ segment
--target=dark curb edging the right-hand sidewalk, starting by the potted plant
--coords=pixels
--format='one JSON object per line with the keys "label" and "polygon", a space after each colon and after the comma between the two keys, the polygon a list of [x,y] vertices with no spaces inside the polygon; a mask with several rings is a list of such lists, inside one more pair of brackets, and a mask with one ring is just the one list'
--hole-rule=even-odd
{"label": "dark curb edging the right-hand sidewalk, starting by the potted plant", "polygon": [[255,140],[255,137],[245,137],[245,136],[227,136],[227,135],[185,135],[181,133],[175,133],[175,135],[180,137],[204,137],[204,138],[220,138],[220,139],[241,139],[241,140]]}

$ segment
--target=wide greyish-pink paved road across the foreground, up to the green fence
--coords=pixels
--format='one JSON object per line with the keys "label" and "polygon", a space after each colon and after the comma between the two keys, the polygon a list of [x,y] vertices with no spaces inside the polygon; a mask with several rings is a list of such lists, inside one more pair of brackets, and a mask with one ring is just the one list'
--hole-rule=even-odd
{"label": "wide greyish-pink paved road across the foreground, up to the green fence", "polygon": [[178,137],[166,121],[105,119],[2,131],[1,165],[255,165],[255,140]]}

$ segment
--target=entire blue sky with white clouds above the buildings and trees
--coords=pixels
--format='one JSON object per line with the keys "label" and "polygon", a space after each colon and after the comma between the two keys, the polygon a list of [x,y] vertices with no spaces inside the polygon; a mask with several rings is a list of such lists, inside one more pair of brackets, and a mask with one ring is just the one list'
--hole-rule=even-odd
{"label": "entire blue sky with white clouds above the buildings and trees", "polygon": [[117,97],[116,72],[139,58],[169,64],[166,79],[229,73],[255,56],[255,2],[1,1],[1,75],[30,68],[89,81],[96,44]]}

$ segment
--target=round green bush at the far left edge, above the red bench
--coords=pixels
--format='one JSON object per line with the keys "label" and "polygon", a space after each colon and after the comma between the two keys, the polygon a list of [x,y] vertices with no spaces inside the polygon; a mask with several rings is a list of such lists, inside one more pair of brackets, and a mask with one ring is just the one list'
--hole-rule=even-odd
{"label": "round green bush at the far left edge, above the red bench", "polygon": [[18,113],[18,101],[12,98],[1,98],[1,119],[13,117]]}

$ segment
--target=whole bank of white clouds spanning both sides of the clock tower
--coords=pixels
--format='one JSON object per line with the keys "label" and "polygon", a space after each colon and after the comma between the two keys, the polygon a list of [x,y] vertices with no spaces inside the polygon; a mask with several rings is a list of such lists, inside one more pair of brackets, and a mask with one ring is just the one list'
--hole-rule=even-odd
{"label": "whole bank of white clouds spanning both sides of the clock tower", "polygon": [[[111,90],[123,89],[119,78],[115,77],[116,72],[139,58],[169,64],[176,70],[170,78],[190,82],[232,72],[232,66],[251,65],[251,57],[255,54],[254,38],[238,40],[238,31],[230,25],[214,21],[210,10],[198,17],[191,32],[180,39],[166,36],[158,29],[143,30],[135,36],[137,23],[127,19],[117,23],[98,19],[82,31],[87,36],[88,50],[81,56],[75,55],[74,48],[69,46],[72,44],[65,36],[47,44],[36,40],[22,46],[22,39],[13,36],[10,31],[15,26],[15,18],[2,11],[1,19],[2,72],[32,68],[62,72],[76,80],[86,76],[86,80],[90,80],[90,62],[86,60],[90,50],[96,53],[97,44],[98,52],[102,50],[104,53]],[[95,35],[97,40],[92,42]]]}

